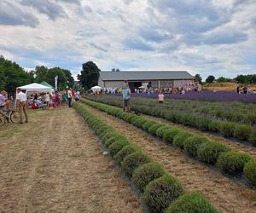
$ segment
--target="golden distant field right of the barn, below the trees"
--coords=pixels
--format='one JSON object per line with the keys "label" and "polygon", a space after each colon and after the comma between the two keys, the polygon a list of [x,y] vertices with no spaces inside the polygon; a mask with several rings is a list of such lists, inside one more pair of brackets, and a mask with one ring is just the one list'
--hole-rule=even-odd
{"label": "golden distant field right of the barn, below the trees", "polygon": [[[210,91],[236,91],[236,87],[239,85],[239,83],[230,83],[230,82],[224,82],[224,83],[207,83],[203,86],[203,90],[210,90]],[[249,89],[256,89],[256,84],[250,84],[247,85]]]}

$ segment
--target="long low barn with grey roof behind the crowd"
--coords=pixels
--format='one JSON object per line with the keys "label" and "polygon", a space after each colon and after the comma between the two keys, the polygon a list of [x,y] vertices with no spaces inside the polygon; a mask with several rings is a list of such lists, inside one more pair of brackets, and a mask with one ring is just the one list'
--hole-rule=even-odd
{"label": "long low barn with grey roof behind the crowd", "polygon": [[142,85],[152,88],[178,87],[181,83],[194,82],[195,78],[186,71],[102,71],[98,85],[102,88],[120,88],[125,80],[131,89],[135,89]]}

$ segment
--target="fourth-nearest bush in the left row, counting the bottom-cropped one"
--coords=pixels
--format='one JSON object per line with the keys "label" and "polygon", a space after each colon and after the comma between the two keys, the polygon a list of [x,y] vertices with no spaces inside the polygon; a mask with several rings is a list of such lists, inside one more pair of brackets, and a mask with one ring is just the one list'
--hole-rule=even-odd
{"label": "fourth-nearest bush in the left row, counting the bottom-cropped one", "polygon": [[147,155],[141,152],[131,153],[125,157],[122,163],[122,170],[125,171],[128,177],[131,177],[133,171],[136,170],[139,165],[149,162],[150,158]]}

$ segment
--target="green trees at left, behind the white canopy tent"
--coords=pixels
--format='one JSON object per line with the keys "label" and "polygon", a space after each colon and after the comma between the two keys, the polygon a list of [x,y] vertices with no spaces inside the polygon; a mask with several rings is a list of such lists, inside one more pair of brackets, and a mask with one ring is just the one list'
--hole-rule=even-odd
{"label": "green trees at left, behind the white canopy tent", "polygon": [[0,55],[0,90],[4,89],[9,93],[15,93],[15,89],[19,86],[43,81],[55,86],[56,75],[58,75],[58,89],[74,86],[73,76],[67,69],[36,66],[34,70],[27,72],[17,63]]}

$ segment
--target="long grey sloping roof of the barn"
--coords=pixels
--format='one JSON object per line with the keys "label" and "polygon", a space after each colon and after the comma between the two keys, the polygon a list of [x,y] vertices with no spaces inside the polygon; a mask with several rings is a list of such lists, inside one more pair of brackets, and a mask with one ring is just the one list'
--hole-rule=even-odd
{"label": "long grey sloping roof of the barn", "polygon": [[102,81],[194,79],[186,71],[102,71],[100,78]]}

